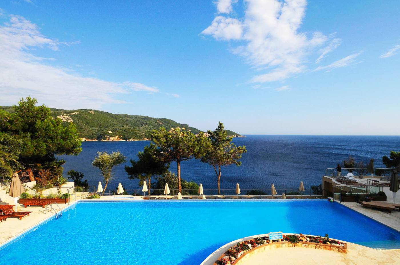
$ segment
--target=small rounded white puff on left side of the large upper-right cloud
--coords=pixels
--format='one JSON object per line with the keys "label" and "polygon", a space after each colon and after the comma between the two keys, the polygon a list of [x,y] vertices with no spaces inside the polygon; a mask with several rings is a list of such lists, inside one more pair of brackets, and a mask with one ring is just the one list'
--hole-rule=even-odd
{"label": "small rounded white puff on left side of the large upper-right cloud", "polygon": [[236,18],[217,16],[202,34],[212,35],[216,40],[240,40],[243,35],[243,25]]}

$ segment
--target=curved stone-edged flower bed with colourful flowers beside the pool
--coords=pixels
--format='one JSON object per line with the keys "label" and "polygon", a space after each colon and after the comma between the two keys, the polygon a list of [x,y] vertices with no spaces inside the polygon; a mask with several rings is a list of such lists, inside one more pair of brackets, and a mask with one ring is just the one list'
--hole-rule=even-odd
{"label": "curved stone-edged flower bed with colourful flowers beside the pool", "polygon": [[325,237],[311,236],[302,234],[285,234],[282,241],[268,240],[268,237],[256,237],[254,239],[242,241],[235,246],[230,247],[224,254],[222,254],[214,265],[234,265],[237,264],[242,257],[251,253],[255,249],[262,247],[311,247],[318,249],[327,249],[341,253],[347,252],[347,244],[341,243],[336,239],[330,239],[326,234]]}

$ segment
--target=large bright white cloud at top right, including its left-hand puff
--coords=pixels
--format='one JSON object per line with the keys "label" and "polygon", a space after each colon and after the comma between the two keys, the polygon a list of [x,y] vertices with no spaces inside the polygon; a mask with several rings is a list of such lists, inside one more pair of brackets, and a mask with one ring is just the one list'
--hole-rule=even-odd
{"label": "large bright white cloud at top right, including its left-hand puff", "polygon": [[[243,18],[218,15],[202,34],[216,40],[245,42],[232,48],[232,53],[243,56],[256,69],[267,70],[267,73],[254,76],[251,82],[279,81],[304,72],[310,53],[319,50],[321,58],[317,60],[320,61],[340,43],[334,34],[299,32],[306,0],[243,1]],[[229,8],[232,8],[231,4]],[[217,10],[220,12],[218,4]]]}

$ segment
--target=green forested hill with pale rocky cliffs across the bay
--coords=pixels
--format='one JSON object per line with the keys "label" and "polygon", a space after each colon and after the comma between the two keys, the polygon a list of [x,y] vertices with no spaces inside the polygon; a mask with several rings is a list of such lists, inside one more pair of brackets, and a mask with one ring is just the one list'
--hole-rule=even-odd
{"label": "green forested hill with pale rocky cliffs across the bay", "polygon": [[[12,107],[0,107],[12,112]],[[187,124],[177,123],[170,119],[157,119],[139,115],[112,114],[94,109],[52,109],[52,116],[59,117],[64,123],[74,123],[78,134],[85,140],[143,140],[150,138],[154,129],[165,127],[180,127],[194,134],[200,130],[189,127]],[[211,128],[214,129],[214,128]],[[241,136],[240,134],[226,130],[228,135]]]}

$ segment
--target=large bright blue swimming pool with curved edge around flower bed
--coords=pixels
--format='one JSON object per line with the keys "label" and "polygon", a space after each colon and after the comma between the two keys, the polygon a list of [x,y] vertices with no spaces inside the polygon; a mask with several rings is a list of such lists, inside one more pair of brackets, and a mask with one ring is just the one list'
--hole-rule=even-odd
{"label": "large bright blue swimming pool with curved edge around flower bed", "polygon": [[197,265],[225,243],[272,231],[400,248],[398,231],[325,200],[85,201],[1,247],[0,264]]}

